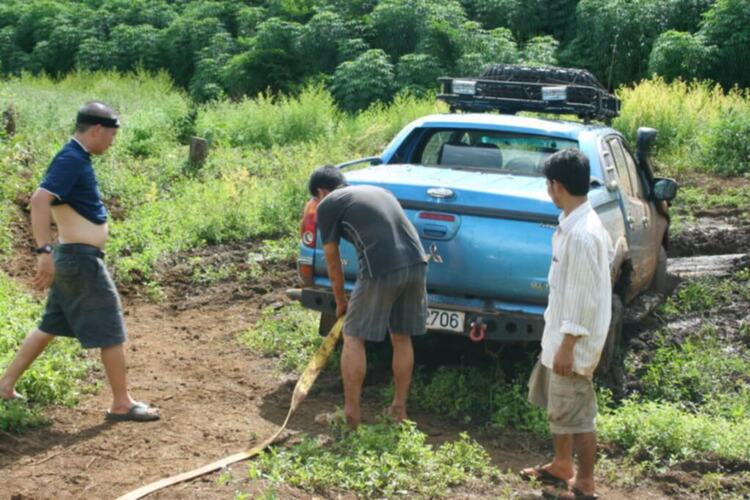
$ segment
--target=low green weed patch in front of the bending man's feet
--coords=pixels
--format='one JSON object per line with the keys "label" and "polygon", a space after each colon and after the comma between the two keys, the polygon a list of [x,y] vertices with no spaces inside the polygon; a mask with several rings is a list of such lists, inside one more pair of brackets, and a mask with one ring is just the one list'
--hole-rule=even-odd
{"label": "low green weed patch in front of the bending man's feet", "polygon": [[487,452],[467,435],[439,447],[412,422],[375,424],[334,437],[307,437],[271,448],[251,464],[251,479],[287,484],[316,494],[351,492],[364,498],[449,496],[472,481],[497,482]]}

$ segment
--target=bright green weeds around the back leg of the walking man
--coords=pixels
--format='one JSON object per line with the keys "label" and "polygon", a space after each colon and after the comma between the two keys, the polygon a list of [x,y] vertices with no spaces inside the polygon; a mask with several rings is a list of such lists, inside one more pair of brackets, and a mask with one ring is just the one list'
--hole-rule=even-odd
{"label": "bright green weeds around the back leg of the walking man", "polygon": [[[41,304],[0,271],[0,372],[5,371],[40,314]],[[90,362],[75,341],[53,341],[16,386],[34,406],[0,401],[0,430],[19,432],[44,423],[39,410],[45,405],[73,405],[89,368]]]}

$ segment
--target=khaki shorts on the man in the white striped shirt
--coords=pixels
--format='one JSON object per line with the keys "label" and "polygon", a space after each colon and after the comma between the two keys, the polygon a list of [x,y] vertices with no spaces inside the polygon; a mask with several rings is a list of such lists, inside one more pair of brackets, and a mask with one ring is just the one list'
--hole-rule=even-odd
{"label": "khaki shorts on the man in the white striped shirt", "polygon": [[596,430],[596,394],[589,377],[561,377],[537,361],[529,378],[529,402],[547,410],[552,434],[583,434]]}

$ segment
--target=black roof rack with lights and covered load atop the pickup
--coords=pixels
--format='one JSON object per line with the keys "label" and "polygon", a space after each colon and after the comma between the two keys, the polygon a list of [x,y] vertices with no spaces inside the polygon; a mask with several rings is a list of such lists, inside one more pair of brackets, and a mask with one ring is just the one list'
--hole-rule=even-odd
{"label": "black roof rack with lights and covered load atop the pickup", "polygon": [[606,123],[619,115],[620,100],[588,71],[495,65],[479,78],[438,78],[438,99],[455,111],[519,111],[572,114]]}

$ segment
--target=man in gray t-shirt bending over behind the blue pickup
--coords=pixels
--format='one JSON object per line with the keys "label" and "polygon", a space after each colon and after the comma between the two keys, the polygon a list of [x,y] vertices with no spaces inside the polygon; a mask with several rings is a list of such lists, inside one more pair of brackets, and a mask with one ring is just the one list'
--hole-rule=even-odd
{"label": "man in gray t-shirt bending over behind the blue pickup", "polygon": [[[309,189],[319,201],[318,227],[336,298],[336,317],[346,314],[341,374],[347,423],[356,427],[361,419],[365,340],[382,342],[388,330],[395,384],[389,413],[396,421],[404,420],[414,367],[411,337],[425,333],[427,320],[427,261],[417,230],[391,193],[375,186],[347,186],[335,167],[315,170]],[[354,245],[359,258],[350,299],[344,293],[342,237]]]}

